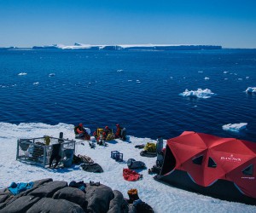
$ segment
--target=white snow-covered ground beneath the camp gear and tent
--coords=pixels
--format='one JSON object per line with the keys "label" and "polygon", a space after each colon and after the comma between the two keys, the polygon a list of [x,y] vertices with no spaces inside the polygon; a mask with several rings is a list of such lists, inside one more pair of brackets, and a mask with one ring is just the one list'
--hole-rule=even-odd
{"label": "white snow-covered ground beneath the camp gear and tent", "polygon": [[[74,139],[73,125],[71,124],[8,124],[0,123],[0,188],[9,187],[12,181],[28,182],[43,178],[52,178],[54,181],[100,181],[102,184],[117,189],[128,198],[127,191],[137,188],[140,199],[150,204],[155,212],[256,212],[256,206],[228,202],[220,199],[189,193],[176,187],[170,187],[154,181],[154,175],[148,175],[148,170],[142,170],[143,179],[139,181],[125,181],[123,168],[125,162],[118,163],[110,158],[111,151],[124,154],[124,160],[135,158],[143,161],[148,168],[155,164],[156,158],[140,156],[138,144],[156,142],[149,138],[137,138],[129,135],[128,140],[116,140],[108,143],[108,147],[96,146],[91,149],[88,143],[76,146],[76,154],[84,154],[102,166],[103,173],[95,174],[82,170],[79,165],[67,169],[44,169],[35,165],[16,161],[16,145],[19,138],[33,138],[50,135],[58,137],[64,133],[64,138]],[[79,140],[76,140],[79,141]],[[164,141],[166,143],[166,141]]]}

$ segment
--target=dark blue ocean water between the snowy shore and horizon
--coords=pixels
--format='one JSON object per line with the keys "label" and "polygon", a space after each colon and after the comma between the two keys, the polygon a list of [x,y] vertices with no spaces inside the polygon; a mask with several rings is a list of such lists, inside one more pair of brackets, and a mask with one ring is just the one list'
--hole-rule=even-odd
{"label": "dark blue ocean water between the snowy shore and horizon", "polygon": [[[0,122],[114,124],[165,139],[193,130],[256,141],[256,50],[0,52]],[[210,89],[210,98],[183,97]],[[233,134],[224,124],[247,123]],[[22,136],[22,135],[20,135]]]}

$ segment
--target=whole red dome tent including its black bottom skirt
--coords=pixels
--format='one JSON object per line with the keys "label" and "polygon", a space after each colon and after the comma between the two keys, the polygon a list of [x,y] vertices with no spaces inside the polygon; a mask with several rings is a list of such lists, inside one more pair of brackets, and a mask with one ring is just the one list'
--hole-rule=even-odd
{"label": "whole red dome tent including its black bottom skirt", "polygon": [[185,131],[167,141],[164,164],[155,179],[256,204],[256,143]]}

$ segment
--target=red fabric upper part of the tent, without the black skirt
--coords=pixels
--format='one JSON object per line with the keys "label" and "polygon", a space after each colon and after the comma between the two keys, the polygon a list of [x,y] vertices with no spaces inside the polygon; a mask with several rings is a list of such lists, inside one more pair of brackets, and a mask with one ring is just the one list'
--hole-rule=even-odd
{"label": "red fabric upper part of the tent, without the black skirt", "polygon": [[175,170],[185,171],[201,187],[231,181],[241,193],[256,199],[256,143],[251,141],[185,131],[167,140],[160,179],[171,178]]}

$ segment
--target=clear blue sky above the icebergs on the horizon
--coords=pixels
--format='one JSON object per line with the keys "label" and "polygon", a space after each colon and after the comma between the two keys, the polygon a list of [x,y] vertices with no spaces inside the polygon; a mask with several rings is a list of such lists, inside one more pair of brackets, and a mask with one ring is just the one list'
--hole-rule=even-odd
{"label": "clear blue sky above the icebergs on the horizon", "polygon": [[0,0],[0,47],[53,43],[256,48],[256,1]]}

